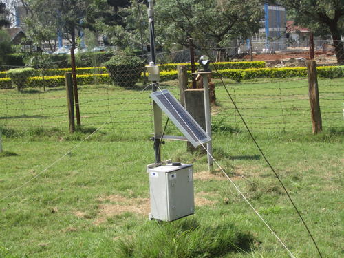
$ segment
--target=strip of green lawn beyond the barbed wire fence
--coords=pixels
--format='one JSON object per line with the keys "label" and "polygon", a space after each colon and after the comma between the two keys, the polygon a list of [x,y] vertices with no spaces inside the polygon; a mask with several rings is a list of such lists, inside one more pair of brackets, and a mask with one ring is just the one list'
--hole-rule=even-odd
{"label": "strip of green lawn beyond the barbed wire fence", "polygon": [[[243,130],[243,124],[219,80],[214,80],[217,105],[213,107],[213,125],[217,129]],[[310,103],[308,82],[305,78],[292,80],[248,80],[233,83],[225,80],[226,87],[242,116],[253,131],[310,131]],[[324,129],[343,128],[344,78],[319,78],[321,115]],[[175,96],[179,89],[175,81],[162,83]],[[137,131],[151,133],[152,116],[150,87],[122,89],[113,85],[79,87],[80,114],[83,128],[97,128],[107,122],[103,131]],[[43,92],[39,89],[0,90],[1,125],[10,129],[58,129],[67,131],[68,117],[65,88],[56,87]],[[169,130],[176,133],[174,127]]]}

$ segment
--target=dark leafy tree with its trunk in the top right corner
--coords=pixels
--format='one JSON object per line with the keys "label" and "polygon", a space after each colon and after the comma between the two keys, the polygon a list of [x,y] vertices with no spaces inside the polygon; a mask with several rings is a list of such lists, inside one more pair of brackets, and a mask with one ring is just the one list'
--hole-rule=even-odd
{"label": "dark leafy tree with its trunk in the top right corner", "polygon": [[344,34],[344,0],[280,0],[279,3],[294,10],[296,24],[310,28],[314,34],[330,34],[337,62],[344,63],[341,36]]}

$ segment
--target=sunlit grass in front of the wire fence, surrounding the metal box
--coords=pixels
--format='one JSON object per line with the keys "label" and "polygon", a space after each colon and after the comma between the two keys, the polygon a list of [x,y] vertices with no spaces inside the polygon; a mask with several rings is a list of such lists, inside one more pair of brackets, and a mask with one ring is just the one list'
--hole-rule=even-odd
{"label": "sunlit grass in front of the wire fence, surrounding the metal box", "polygon": [[[299,206],[324,257],[341,257],[343,136],[277,134],[257,134],[257,139]],[[196,197],[212,201],[197,206],[191,217],[197,227],[183,233],[180,227],[188,222],[182,219],[163,224],[159,231],[155,222],[147,222],[147,213],[135,209],[149,198],[145,165],[153,162],[152,143],[122,138],[109,142],[107,133],[98,137],[80,144],[61,162],[0,202],[1,257],[123,257],[125,250],[140,257],[144,249],[146,257],[157,250],[162,251],[161,257],[197,257],[201,252],[213,253],[212,248],[221,250],[208,257],[288,257],[226,180],[195,180]],[[17,155],[0,158],[0,196],[28,182],[76,144],[54,138],[4,138],[4,149]],[[294,255],[316,257],[281,186],[246,133],[215,133],[214,147],[215,158]],[[193,162],[196,175],[206,170],[206,157],[185,150],[184,143],[167,142],[162,155]],[[118,195],[125,200],[111,199]],[[132,209],[116,212],[118,207],[127,207],[128,200],[133,202]],[[108,214],[104,207],[109,207]],[[211,242],[202,234],[219,240],[213,246],[197,246]],[[160,239],[161,235],[166,239]],[[160,241],[155,246],[156,237]],[[166,246],[162,248],[162,244]],[[175,255],[176,245],[187,252]],[[243,250],[233,249],[234,245]],[[152,246],[151,252],[147,246]]]}

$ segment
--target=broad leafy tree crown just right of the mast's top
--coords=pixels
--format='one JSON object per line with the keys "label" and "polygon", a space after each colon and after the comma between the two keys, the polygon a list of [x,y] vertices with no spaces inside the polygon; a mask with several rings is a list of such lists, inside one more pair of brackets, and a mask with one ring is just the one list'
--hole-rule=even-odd
{"label": "broad leafy tree crown just right of the mast's top", "polygon": [[248,36],[260,27],[259,0],[160,0],[156,5],[158,43],[187,45],[192,37],[201,47],[222,47],[228,38]]}

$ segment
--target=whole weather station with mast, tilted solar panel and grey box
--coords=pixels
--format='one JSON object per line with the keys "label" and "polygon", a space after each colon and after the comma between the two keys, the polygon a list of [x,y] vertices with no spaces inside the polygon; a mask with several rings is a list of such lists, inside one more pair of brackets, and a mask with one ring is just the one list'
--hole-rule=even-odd
{"label": "whole weather station with mast, tilted solar panel and grey box", "polygon": [[[189,141],[194,147],[211,142],[211,137],[198,125],[168,89],[160,89],[159,67],[155,63],[154,3],[148,0],[149,32],[151,43],[151,62],[147,65],[149,81],[152,85],[155,162],[147,165],[151,213],[149,219],[171,222],[195,213],[193,193],[193,164],[162,161],[160,149],[163,140]],[[165,136],[162,129],[162,111],[182,136]],[[166,127],[165,127],[166,128]]]}

